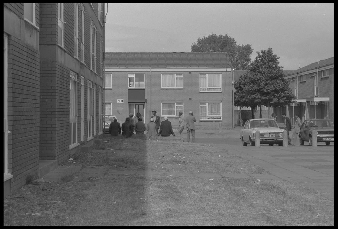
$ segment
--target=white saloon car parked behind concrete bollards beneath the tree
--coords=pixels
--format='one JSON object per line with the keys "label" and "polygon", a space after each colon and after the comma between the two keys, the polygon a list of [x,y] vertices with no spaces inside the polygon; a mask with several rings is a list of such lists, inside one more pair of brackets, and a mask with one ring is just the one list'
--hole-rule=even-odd
{"label": "white saloon car parked behind concrete bollards beneath the tree", "polygon": [[240,132],[240,139],[243,146],[255,146],[256,131],[260,132],[260,143],[273,146],[278,144],[283,146],[283,129],[279,128],[275,119],[256,118],[249,119],[245,122]]}

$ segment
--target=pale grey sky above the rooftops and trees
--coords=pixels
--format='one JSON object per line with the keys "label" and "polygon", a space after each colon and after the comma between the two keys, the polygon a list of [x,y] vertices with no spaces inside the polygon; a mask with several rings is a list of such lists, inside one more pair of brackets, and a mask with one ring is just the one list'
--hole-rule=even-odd
{"label": "pale grey sky above the rooftops and trees", "polygon": [[190,52],[209,34],[272,49],[284,70],[334,57],[334,3],[105,3],[105,52]]}

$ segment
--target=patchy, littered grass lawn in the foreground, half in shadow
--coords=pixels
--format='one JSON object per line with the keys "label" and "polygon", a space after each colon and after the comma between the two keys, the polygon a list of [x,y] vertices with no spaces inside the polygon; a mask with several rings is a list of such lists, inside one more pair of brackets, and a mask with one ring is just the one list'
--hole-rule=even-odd
{"label": "patchy, littered grass lawn in the foreground, half in shadow", "polygon": [[[34,209],[20,209],[29,213],[22,219],[17,213],[21,205],[16,201],[29,205],[39,198],[39,192],[34,196],[26,185],[30,194],[4,198],[4,225],[334,226],[334,200],[297,183],[195,176],[198,172],[267,173],[250,161],[207,144],[130,138],[108,139],[94,147],[102,151],[80,152],[74,155],[74,165],[135,174],[109,171],[95,180],[52,182],[52,191],[46,194],[51,200],[45,201],[45,208],[34,205]],[[143,171],[172,175],[144,175]],[[34,188],[39,190],[43,185],[47,184]],[[50,213],[53,210],[54,214]],[[32,211],[41,214],[32,215]]]}

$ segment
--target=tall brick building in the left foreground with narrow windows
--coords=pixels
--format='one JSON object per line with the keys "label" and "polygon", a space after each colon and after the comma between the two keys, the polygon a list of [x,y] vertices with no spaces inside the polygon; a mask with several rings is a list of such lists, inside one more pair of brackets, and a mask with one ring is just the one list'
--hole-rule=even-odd
{"label": "tall brick building in the left foreground with narrow windows", "polygon": [[103,15],[103,3],[4,3],[4,195],[102,134]]}

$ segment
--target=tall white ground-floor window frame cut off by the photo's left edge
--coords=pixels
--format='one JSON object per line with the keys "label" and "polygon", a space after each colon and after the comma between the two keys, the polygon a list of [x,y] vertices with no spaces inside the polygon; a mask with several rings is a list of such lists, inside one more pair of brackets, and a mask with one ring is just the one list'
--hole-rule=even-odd
{"label": "tall white ground-floor window frame cut off by the photo's left edge", "polygon": [[8,36],[3,33],[3,181],[13,177],[8,171]]}

